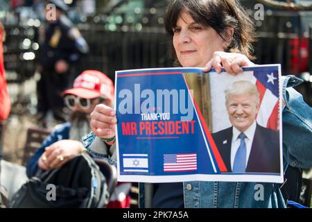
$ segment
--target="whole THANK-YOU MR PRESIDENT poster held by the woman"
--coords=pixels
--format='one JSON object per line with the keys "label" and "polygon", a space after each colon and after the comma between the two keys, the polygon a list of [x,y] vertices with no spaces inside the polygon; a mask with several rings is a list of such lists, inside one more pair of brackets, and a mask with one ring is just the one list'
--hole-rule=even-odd
{"label": "whole THANK-YOU MR PRESIDENT poster held by the woman", "polygon": [[116,71],[118,180],[283,182],[280,65]]}

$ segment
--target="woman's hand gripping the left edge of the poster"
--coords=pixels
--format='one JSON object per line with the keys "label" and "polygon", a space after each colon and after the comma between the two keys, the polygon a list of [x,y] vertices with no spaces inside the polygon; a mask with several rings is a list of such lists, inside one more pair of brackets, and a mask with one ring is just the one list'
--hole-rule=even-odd
{"label": "woman's hand gripping the left edge of the poster", "polygon": [[109,139],[115,135],[116,112],[107,105],[98,104],[90,114],[90,126],[94,135]]}

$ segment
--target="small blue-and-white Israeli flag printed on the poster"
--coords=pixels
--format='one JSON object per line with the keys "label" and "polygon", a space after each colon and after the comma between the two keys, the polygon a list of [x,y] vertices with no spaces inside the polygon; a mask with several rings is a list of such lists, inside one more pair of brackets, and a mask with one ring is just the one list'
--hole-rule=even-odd
{"label": "small blue-and-white Israeli flag printed on the poster", "polygon": [[148,173],[148,154],[123,154],[123,171]]}

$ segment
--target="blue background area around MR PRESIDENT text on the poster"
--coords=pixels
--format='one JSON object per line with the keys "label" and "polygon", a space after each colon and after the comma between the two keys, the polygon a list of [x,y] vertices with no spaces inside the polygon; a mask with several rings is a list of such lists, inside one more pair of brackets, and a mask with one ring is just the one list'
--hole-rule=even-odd
{"label": "blue background area around MR PRESIDENT text on the poster", "polygon": [[[162,70],[164,71],[164,69]],[[172,70],[168,70],[172,72]],[[137,73],[137,72],[136,72]],[[156,95],[157,89],[184,89],[185,92],[188,92],[187,85],[184,82],[182,74],[160,74],[160,75],[145,75],[141,74],[138,76],[123,76],[119,77],[124,73],[117,73],[117,105],[123,101],[124,98],[119,98],[119,92],[122,89],[130,89],[132,92],[132,104],[135,105],[135,84],[139,84],[140,92],[144,89],[152,89]],[[128,72],[128,74],[131,74]],[[179,91],[178,91],[179,92]],[[136,92],[137,93],[137,92]],[[137,96],[137,95],[136,95]],[[185,101],[187,103],[188,94],[184,94]],[[146,98],[140,98],[139,104],[145,101]],[[155,98],[155,106],[157,105],[157,99]],[[191,105],[193,104],[186,104]],[[150,108],[153,110],[153,108]],[[172,100],[171,100],[171,115],[169,121],[180,121],[181,117],[186,114],[172,114]],[[140,135],[139,133],[139,122],[141,120],[140,114],[121,114],[119,108],[117,107],[117,119],[118,119],[118,139],[119,139],[119,161],[123,163],[123,154],[148,154],[148,173],[144,172],[124,172],[123,164],[120,164],[121,174],[122,175],[150,175],[150,176],[165,176],[165,175],[185,175],[193,173],[203,173],[203,174],[214,174],[214,169],[210,162],[210,157],[205,145],[204,137],[202,135],[202,130],[200,129],[199,119],[196,116],[195,108],[193,107],[193,120],[194,124],[194,134],[184,134],[184,135]],[[179,110],[180,111],[180,110]],[[135,112],[135,108],[132,109],[132,112]],[[159,112],[159,110],[157,110]],[[122,135],[121,123],[125,122],[136,122],[137,123],[137,135]],[[191,126],[190,126],[191,131]],[[136,139],[137,137],[178,137],[175,139]],[[200,138],[200,139],[198,139]],[[173,154],[173,153],[197,153],[197,171],[189,172],[164,172],[164,154]],[[211,152],[211,155],[213,153]],[[214,157],[212,157],[214,160]],[[216,160],[214,160],[216,166],[216,173],[218,167]]]}

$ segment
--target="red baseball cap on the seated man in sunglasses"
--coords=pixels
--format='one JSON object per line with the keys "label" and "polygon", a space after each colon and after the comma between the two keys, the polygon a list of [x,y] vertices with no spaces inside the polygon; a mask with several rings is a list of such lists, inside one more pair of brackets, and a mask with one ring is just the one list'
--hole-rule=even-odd
{"label": "red baseball cap on the seated man in sunglasses", "polygon": [[73,94],[85,99],[103,97],[114,101],[114,84],[103,72],[97,70],[85,70],[73,81],[73,88],[62,93]]}

